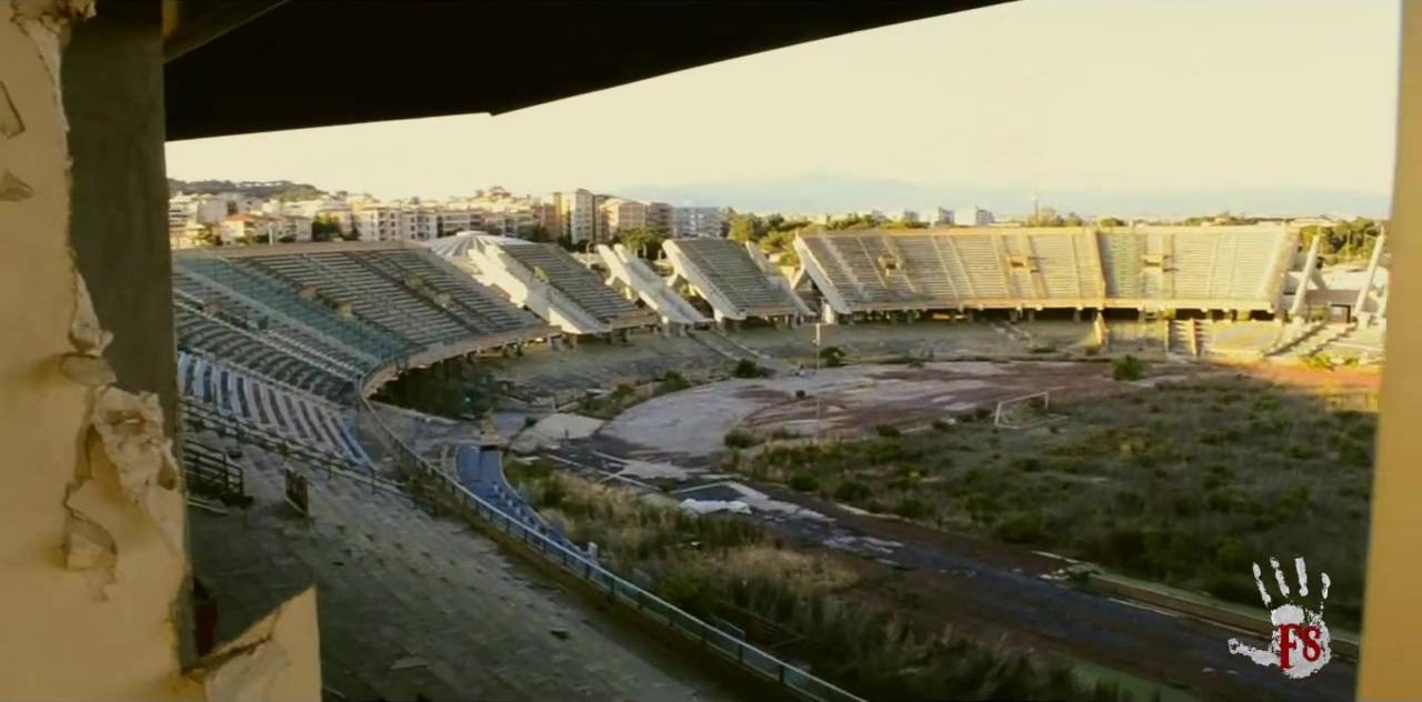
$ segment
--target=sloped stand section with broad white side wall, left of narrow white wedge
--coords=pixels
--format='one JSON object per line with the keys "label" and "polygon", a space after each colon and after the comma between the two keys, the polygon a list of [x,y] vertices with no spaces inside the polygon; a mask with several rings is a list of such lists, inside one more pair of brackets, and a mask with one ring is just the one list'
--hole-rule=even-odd
{"label": "sloped stand section with broad white side wall, left of narrow white wedge", "polygon": [[557,244],[466,232],[437,242],[431,250],[459,261],[481,283],[567,335],[626,335],[657,324],[656,313],[607,287],[602,276]]}

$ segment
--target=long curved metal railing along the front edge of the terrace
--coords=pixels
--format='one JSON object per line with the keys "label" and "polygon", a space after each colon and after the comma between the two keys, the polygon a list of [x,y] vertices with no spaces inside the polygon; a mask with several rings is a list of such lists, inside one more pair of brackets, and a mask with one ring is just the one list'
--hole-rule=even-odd
{"label": "long curved metal railing along the front edge of the terrace", "polygon": [[455,476],[447,475],[429,465],[415,453],[405,442],[395,435],[380,418],[365,398],[357,401],[357,428],[367,438],[383,446],[388,455],[410,470],[412,476],[425,477],[428,487],[441,493],[451,504],[458,506],[465,517],[476,517],[495,529],[522,541],[529,551],[542,554],[553,564],[577,578],[592,584],[594,588],[643,614],[651,622],[675,631],[690,641],[700,641],[701,647],[722,659],[731,661],[757,676],[778,684],[781,688],[809,701],[816,702],[866,702],[863,698],[835,686],[833,684],[816,678],[785,661],[775,658],[759,648],[741,641],[725,631],[701,621],[683,611],[665,600],[623,580],[607,568],[603,568],[586,554],[559,544],[520,520],[506,514],[492,503],[469,492],[459,485]]}

